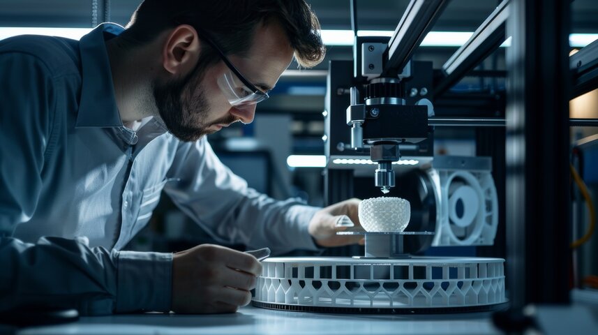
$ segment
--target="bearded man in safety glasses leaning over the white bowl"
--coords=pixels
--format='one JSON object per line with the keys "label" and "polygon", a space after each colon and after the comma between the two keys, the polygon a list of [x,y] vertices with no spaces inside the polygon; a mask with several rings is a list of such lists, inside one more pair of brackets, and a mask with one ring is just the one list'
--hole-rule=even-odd
{"label": "bearded man in safety glasses leaning over the white bowl", "polygon": [[217,239],[294,248],[337,236],[357,200],[318,209],[278,202],[225,168],[204,135],[253,121],[292,57],[324,56],[303,0],[145,0],[127,29],[80,41],[0,43],[0,311],[77,308],[222,313],[251,299],[261,265],[201,245],[121,251],[160,192]]}

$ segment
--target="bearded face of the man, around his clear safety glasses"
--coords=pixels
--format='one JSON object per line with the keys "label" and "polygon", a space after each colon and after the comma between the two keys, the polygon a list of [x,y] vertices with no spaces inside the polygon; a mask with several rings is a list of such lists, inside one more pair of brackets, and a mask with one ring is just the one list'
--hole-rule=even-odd
{"label": "bearded face of the man, around his clear safety glasses", "polygon": [[[268,91],[289,66],[292,55],[283,29],[278,24],[264,24],[255,29],[248,53],[229,59],[255,87]],[[255,105],[233,107],[218,86],[218,78],[226,71],[226,64],[218,61],[203,73],[192,71],[179,80],[154,83],[156,106],[172,135],[193,142],[236,121],[244,124],[253,121]]]}

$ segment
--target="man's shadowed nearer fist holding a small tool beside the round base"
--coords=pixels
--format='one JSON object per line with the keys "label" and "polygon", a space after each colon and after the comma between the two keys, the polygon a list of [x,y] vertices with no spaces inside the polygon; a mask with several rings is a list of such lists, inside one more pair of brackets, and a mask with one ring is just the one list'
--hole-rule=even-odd
{"label": "man's shadowed nearer fist holding a small tool beside the round base", "polygon": [[172,311],[234,313],[251,301],[262,265],[255,257],[223,246],[202,244],[172,259]]}

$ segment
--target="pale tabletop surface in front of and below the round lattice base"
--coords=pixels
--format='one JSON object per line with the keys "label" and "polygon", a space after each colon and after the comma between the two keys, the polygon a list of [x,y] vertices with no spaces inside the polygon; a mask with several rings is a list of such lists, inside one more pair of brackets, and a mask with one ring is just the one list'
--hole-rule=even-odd
{"label": "pale tabletop surface in front of and below the round lattice base", "polygon": [[78,322],[31,327],[38,334],[500,334],[490,313],[356,315],[271,311],[247,306],[234,314],[130,314],[84,317]]}

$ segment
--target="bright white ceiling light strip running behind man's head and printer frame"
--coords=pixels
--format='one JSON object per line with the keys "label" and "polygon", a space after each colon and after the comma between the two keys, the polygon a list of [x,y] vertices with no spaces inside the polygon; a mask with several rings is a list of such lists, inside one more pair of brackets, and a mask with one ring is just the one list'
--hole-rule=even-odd
{"label": "bright white ceiling light strip running behind man's head and printer frame", "polygon": [[[89,33],[91,28],[45,28],[45,27],[0,27],[0,40],[17,35],[33,34],[73,38],[78,40]],[[353,45],[352,30],[321,31],[325,45]],[[360,30],[357,36],[392,36],[394,31],[389,30]],[[461,47],[472,36],[469,31],[430,31],[421,42],[422,47]],[[585,47],[598,39],[598,34],[570,34],[571,47]],[[506,46],[504,43],[502,46]]]}

